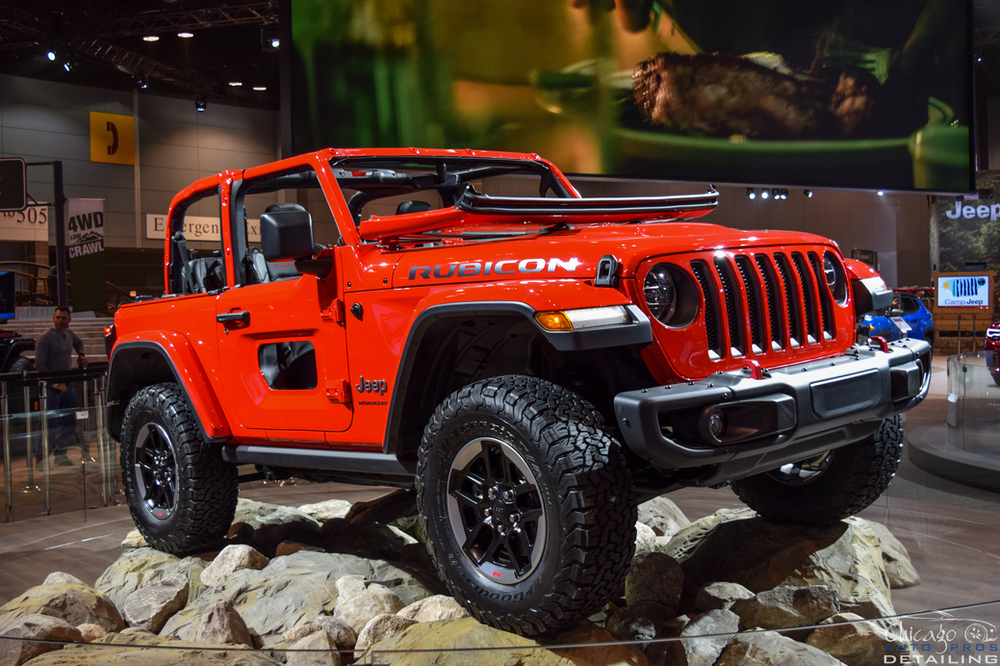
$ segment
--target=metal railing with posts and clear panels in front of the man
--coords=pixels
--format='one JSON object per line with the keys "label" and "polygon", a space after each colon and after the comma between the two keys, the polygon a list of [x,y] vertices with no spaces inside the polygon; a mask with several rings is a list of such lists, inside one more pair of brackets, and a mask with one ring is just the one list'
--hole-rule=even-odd
{"label": "metal railing with posts and clear panels in front of the man", "polygon": [[[88,508],[120,503],[117,450],[104,427],[107,368],[0,374],[4,522],[81,508],[86,520]],[[50,405],[54,384],[72,390],[74,404]],[[74,462],[67,454],[77,451]]]}

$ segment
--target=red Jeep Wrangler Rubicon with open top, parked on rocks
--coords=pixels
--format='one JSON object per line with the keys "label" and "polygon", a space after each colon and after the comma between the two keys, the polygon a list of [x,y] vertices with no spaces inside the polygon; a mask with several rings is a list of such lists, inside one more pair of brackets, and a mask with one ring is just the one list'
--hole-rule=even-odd
{"label": "red Jeep Wrangler Rubicon with open top, parked on rocks", "polygon": [[[882,280],[824,238],[692,221],[716,199],[581,198],[537,155],[477,150],[196,182],[170,206],[166,293],[108,340],[139,530],[213,546],[239,465],[415,487],[455,597],[533,634],[619,593],[644,499],[731,483],[775,520],[860,511],[930,348],[856,345]],[[186,215],[221,218],[215,247],[188,247],[213,230]]]}

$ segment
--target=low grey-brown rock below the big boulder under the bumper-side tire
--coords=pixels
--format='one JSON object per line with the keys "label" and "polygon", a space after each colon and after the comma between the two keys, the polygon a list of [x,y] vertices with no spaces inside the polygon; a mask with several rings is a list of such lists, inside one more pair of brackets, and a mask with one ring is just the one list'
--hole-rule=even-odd
{"label": "low grey-brown rock below the big boulder under the bumper-side tire", "polygon": [[840,612],[837,593],[825,585],[782,585],[743,599],[731,609],[740,616],[743,629],[783,629],[818,624]]}

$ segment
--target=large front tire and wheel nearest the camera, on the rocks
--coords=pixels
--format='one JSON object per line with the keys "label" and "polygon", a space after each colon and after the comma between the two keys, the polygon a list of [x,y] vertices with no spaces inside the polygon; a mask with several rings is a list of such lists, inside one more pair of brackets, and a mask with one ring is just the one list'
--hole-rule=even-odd
{"label": "large front tire and wheel nearest the camera, on the rocks", "polygon": [[635,552],[631,474],[580,396],[518,375],[453,393],[424,429],[416,485],[438,574],[479,621],[535,635],[620,593]]}

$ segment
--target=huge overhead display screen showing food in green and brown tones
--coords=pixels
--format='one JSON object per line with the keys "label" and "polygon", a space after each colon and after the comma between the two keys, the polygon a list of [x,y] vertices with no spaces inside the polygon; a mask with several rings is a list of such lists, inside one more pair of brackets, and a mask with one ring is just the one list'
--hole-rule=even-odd
{"label": "huge overhead display screen showing food in green and brown tones", "polygon": [[967,192],[967,0],[290,0],[293,152]]}

